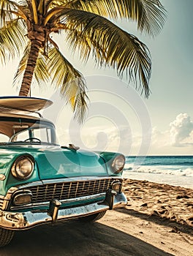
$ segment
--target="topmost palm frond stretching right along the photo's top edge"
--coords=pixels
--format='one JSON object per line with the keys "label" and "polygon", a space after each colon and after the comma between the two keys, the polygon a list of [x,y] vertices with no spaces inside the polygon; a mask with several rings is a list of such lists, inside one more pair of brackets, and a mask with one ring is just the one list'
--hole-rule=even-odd
{"label": "topmost palm frond stretching right along the photo's top edge", "polygon": [[153,36],[162,29],[166,11],[159,0],[61,0],[64,7],[93,12],[117,20],[127,18],[137,21],[140,31]]}

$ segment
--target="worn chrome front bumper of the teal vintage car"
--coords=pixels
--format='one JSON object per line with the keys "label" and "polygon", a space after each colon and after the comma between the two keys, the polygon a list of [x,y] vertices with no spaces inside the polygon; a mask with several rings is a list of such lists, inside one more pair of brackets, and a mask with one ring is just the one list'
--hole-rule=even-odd
{"label": "worn chrome front bumper of the teal vintage car", "polygon": [[111,190],[107,192],[105,200],[101,203],[91,203],[86,206],[63,209],[60,209],[59,206],[51,206],[50,208],[53,208],[51,214],[50,209],[47,212],[26,211],[15,213],[11,211],[0,211],[0,227],[10,230],[26,230],[44,223],[56,222],[56,220],[76,219],[125,205],[126,196],[124,193],[113,194]]}

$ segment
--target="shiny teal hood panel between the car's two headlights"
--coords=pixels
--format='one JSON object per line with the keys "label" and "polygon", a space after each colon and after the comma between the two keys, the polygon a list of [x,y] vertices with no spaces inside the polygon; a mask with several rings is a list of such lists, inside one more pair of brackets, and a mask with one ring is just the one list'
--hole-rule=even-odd
{"label": "shiny teal hood panel between the car's two headlights", "polygon": [[102,157],[90,151],[47,147],[39,148],[34,157],[41,179],[107,175]]}

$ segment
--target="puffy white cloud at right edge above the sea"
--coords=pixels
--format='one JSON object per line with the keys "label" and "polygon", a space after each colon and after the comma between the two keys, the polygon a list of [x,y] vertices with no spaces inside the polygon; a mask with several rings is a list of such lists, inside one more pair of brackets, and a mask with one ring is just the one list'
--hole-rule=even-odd
{"label": "puffy white cloud at right edge above the sea", "polygon": [[193,145],[193,121],[187,113],[180,113],[170,123],[170,139],[173,146]]}

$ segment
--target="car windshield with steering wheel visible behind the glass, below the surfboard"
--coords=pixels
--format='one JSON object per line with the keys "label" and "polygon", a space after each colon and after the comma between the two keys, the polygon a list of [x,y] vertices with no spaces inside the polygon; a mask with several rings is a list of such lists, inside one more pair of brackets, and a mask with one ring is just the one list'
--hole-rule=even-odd
{"label": "car windshield with steering wheel visible behind the glass, below the surfboard", "polygon": [[55,127],[34,118],[0,118],[0,142],[56,144]]}

